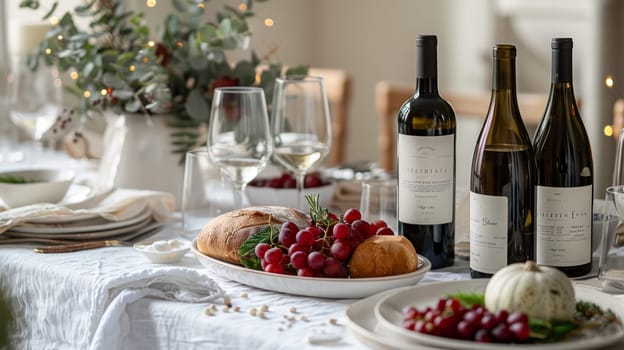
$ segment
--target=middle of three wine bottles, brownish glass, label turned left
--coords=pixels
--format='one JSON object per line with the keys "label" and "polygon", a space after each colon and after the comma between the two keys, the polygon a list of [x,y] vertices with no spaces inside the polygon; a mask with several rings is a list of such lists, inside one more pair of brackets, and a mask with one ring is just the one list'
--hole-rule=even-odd
{"label": "middle of three wine bottles, brownish glass, label turned left", "polygon": [[516,97],[516,48],[493,50],[492,97],[472,158],[470,275],[534,259],[535,158]]}

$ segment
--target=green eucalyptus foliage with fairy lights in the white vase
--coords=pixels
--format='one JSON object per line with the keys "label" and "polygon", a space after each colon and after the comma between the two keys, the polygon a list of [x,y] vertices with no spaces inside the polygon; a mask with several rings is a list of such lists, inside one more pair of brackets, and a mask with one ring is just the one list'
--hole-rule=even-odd
{"label": "green eucalyptus foliage with fairy lights in the white vase", "polygon": [[[206,20],[209,0],[172,0],[176,10],[169,14],[160,35],[150,33],[143,13],[124,8],[123,0],[88,0],[61,16],[38,50],[29,59],[31,69],[44,62],[77,78],[67,91],[77,95],[80,111],[116,113],[172,113],[184,132],[172,135],[176,152],[197,145],[199,133],[190,132],[210,117],[213,90],[220,86],[256,85],[265,89],[271,101],[275,77],[281,64],[250,58],[231,64],[226,53],[248,50],[251,32],[247,19],[254,2],[244,0],[244,10],[224,6],[215,19]],[[44,18],[55,13],[54,1]],[[22,0],[20,7],[38,9],[47,2]],[[74,17],[89,18],[88,28],[74,23]],[[269,60],[266,58],[265,60]],[[256,71],[266,67],[256,81]],[[307,73],[307,67],[291,72]],[[287,72],[287,73],[291,73]],[[87,92],[88,93],[85,93]]]}

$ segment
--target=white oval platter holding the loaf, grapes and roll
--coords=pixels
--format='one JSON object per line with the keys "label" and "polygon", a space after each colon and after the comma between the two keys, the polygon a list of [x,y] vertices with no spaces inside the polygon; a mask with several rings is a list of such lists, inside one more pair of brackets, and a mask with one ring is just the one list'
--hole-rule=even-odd
{"label": "white oval platter holding the loaf, grapes and roll", "polygon": [[401,286],[414,285],[431,270],[431,263],[418,256],[418,270],[402,275],[372,278],[321,278],[279,275],[233,265],[204,255],[197,250],[197,240],[191,250],[199,262],[212,273],[248,286],[274,292],[319,298],[363,298]]}

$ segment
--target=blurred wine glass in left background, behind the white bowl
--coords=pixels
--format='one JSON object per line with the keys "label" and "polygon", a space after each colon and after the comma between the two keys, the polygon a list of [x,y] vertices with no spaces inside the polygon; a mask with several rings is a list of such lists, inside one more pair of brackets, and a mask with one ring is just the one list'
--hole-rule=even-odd
{"label": "blurred wine glass in left background, behind the white bowl", "polygon": [[58,72],[44,64],[32,70],[17,58],[8,79],[8,93],[11,122],[33,140],[34,151],[40,151],[43,134],[54,124],[62,104]]}

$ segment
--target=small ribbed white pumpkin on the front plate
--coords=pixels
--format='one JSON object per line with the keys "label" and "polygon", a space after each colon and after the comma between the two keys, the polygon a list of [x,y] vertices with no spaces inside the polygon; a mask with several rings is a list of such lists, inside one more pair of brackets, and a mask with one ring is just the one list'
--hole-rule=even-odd
{"label": "small ribbed white pumpkin on the front plate", "polygon": [[500,269],[485,289],[485,307],[524,312],[529,318],[570,320],[576,310],[574,287],[561,271],[533,261]]}

